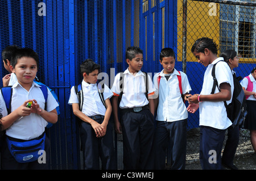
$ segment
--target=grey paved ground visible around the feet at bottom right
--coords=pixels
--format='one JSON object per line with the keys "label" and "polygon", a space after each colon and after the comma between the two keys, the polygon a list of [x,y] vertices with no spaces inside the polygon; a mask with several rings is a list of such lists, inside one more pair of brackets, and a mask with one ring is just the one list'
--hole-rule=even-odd
{"label": "grey paved ground visible around the feet at bottom right", "polygon": [[[234,158],[234,165],[239,170],[256,170],[256,154],[239,155]],[[200,162],[188,163],[186,170],[201,170]],[[225,168],[224,168],[225,169]]]}

